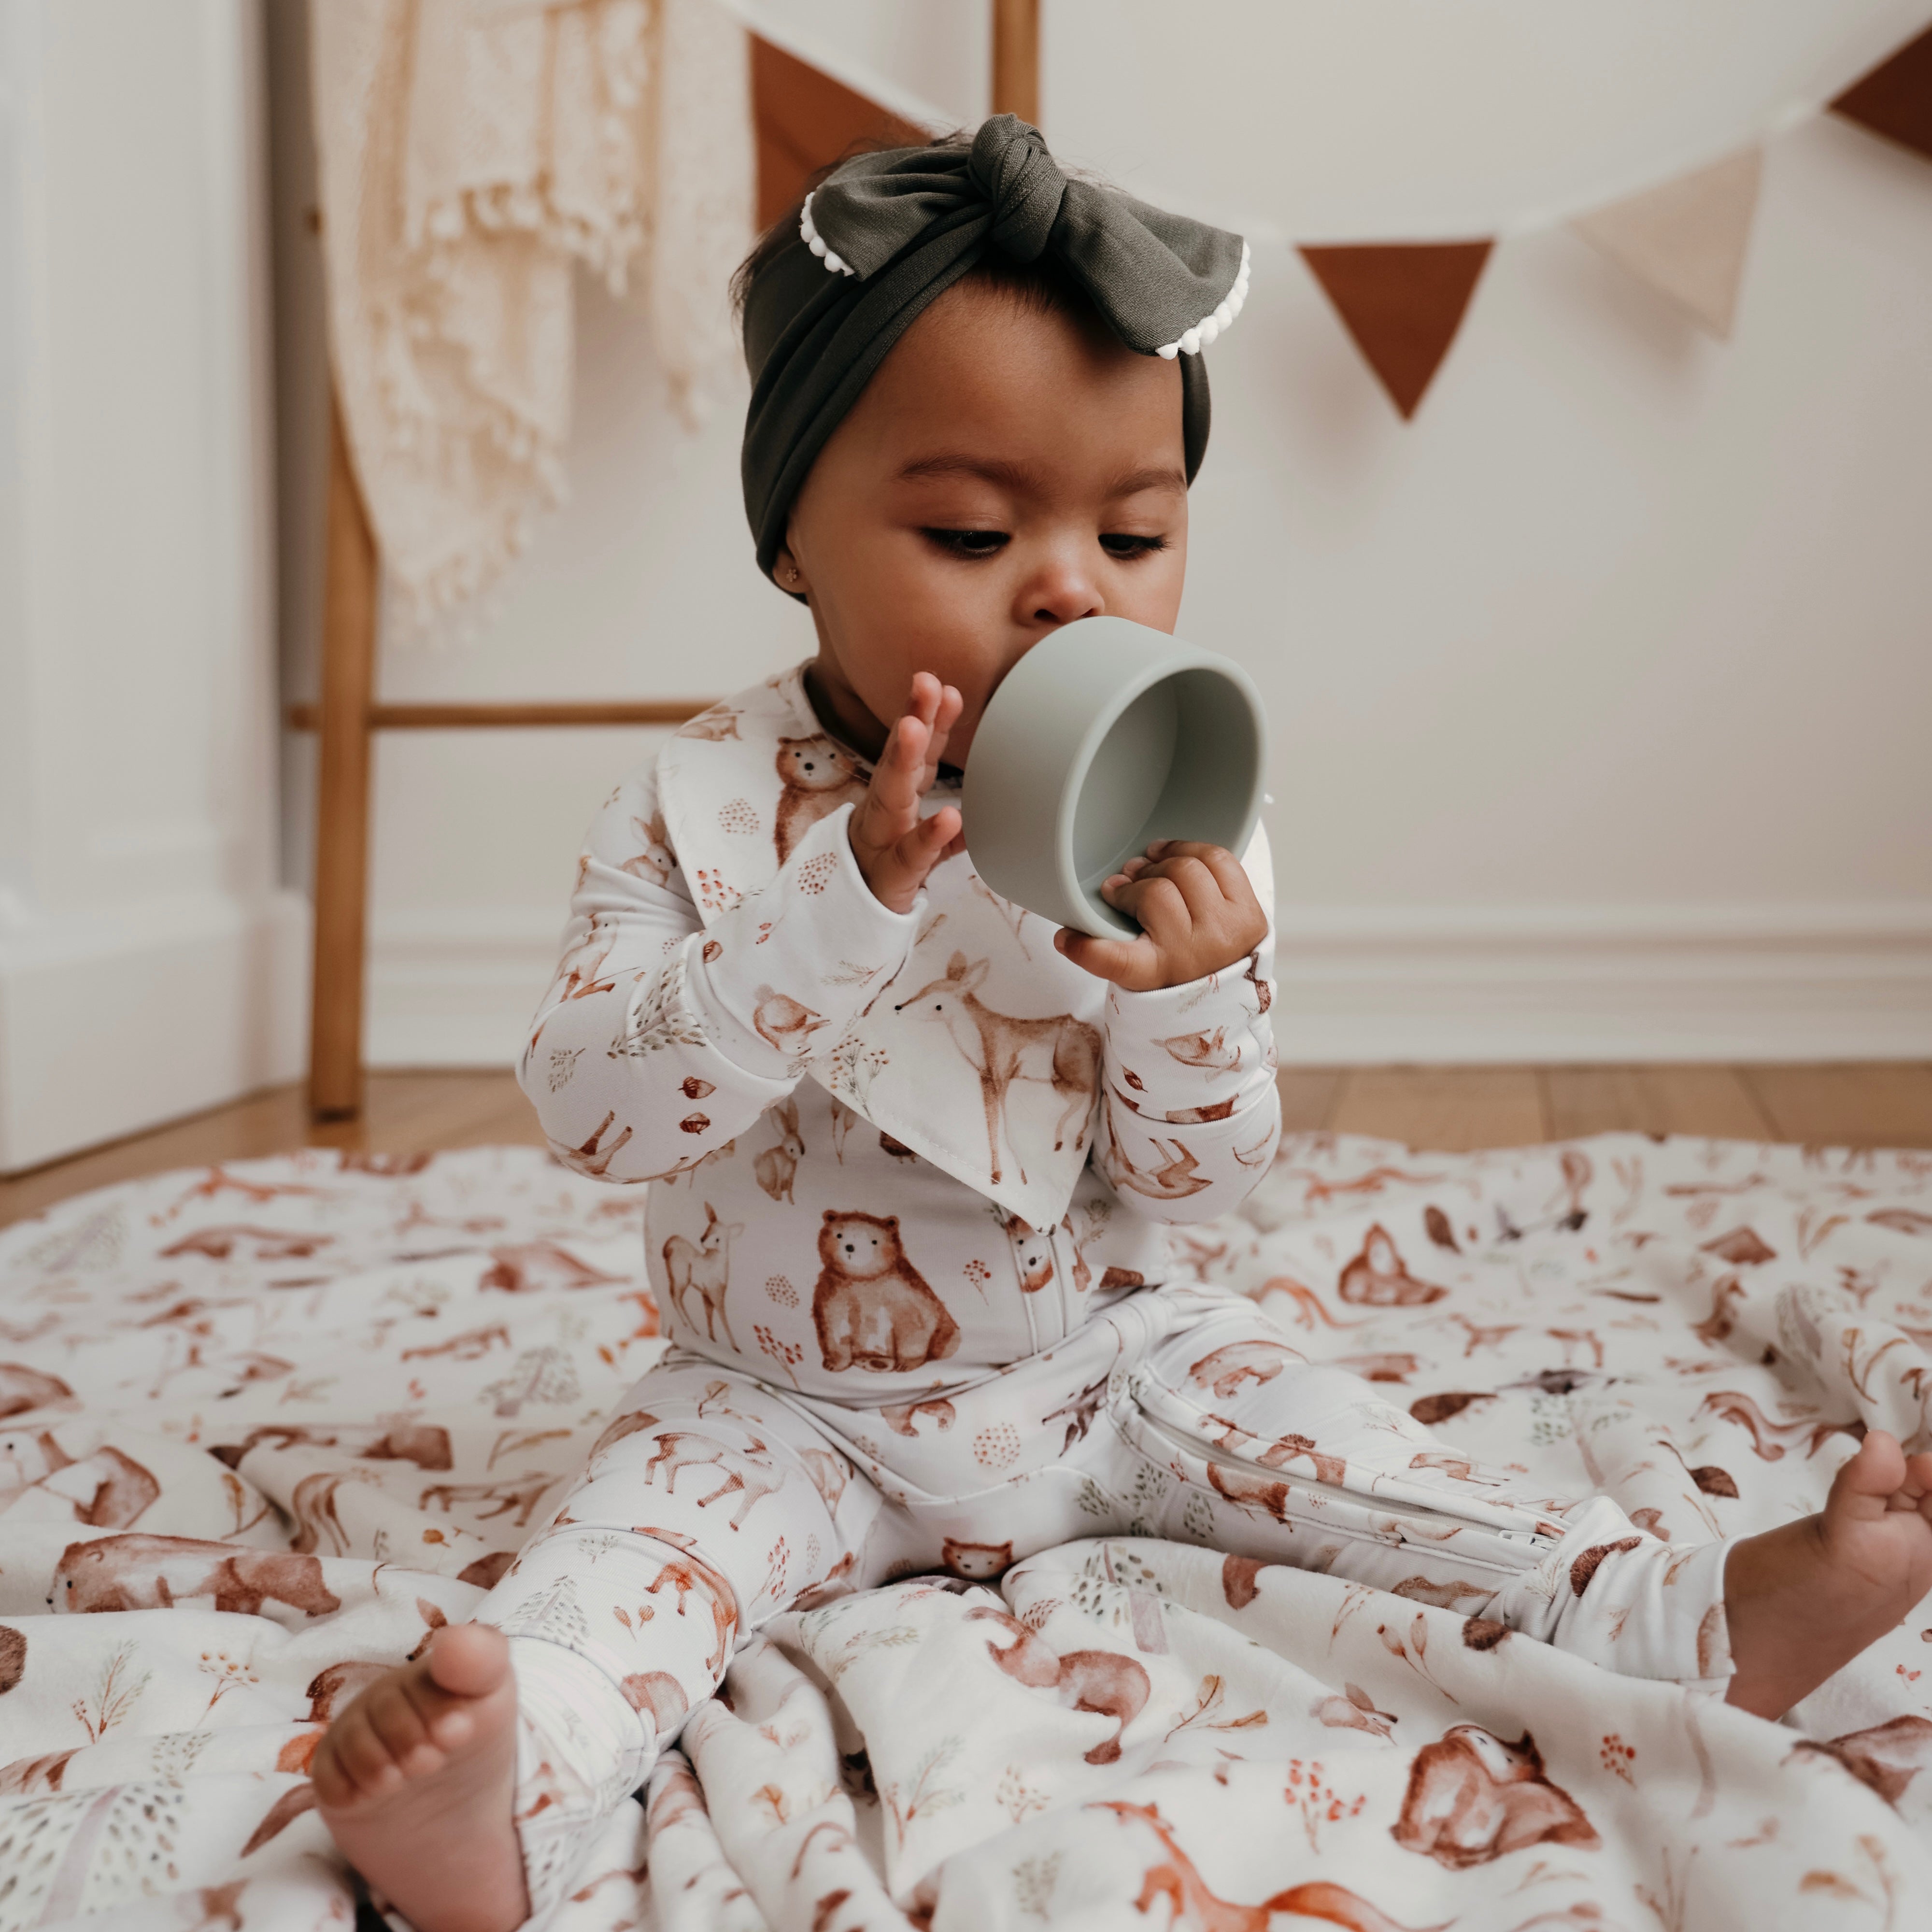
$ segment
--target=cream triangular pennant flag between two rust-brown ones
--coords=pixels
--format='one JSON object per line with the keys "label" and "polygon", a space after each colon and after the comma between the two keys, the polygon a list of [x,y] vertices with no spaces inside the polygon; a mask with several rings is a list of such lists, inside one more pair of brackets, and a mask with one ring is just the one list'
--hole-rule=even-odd
{"label": "cream triangular pennant flag between two rust-brown ones", "polygon": [[1745,278],[1762,164],[1762,153],[1747,147],[1712,168],[1580,214],[1571,228],[1689,309],[1714,336],[1727,338]]}

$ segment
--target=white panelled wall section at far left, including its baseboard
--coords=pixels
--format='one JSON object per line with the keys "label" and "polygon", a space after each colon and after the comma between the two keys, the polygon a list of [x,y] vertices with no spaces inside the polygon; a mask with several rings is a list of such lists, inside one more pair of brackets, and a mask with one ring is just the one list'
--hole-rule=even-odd
{"label": "white panelled wall section at far left, including its baseboard", "polygon": [[0,0],[0,1171],[299,1072],[245,0]]}

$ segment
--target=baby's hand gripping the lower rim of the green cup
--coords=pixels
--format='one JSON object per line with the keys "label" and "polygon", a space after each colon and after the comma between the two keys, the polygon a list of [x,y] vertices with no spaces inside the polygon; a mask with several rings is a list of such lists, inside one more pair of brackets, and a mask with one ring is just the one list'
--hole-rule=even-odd
{"label": "baby's hand gripping the lower rim of the green cup", "polygon": [[1128,993],[1186,985],[1246,958],[1267,937],[1267,914],[1225,846],[1159,838],[1101,889],[1140,922],[1138,939],[1094,939],[1061,927],[1053,945],[1076,966]]}

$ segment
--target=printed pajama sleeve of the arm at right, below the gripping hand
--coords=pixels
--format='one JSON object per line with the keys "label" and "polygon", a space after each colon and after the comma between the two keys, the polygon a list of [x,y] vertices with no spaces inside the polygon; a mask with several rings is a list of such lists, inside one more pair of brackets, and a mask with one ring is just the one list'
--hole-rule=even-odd
{"label": "printed pajama sleeve of the arm at right, below the gripping hand", "polygon": [[1275,893],[1267,838],[1242,858],[1267,914],[1254,952],[1155,993],[1107,995],[1094,1165],[1150,1221],[1213,1221],[1256,1188],[1281,1136],[1269,1026]]}

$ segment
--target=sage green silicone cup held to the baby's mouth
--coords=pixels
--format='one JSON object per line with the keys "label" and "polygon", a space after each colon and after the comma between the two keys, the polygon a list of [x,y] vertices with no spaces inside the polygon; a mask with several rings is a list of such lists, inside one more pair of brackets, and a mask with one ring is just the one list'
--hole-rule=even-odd
{"label": "sage green silicone cup held to the baby's mouth", "polygon": [[1101,883],[1155,838],[1244,852],[1265,767],[1262,696],[1240,665],[1122,616],[1080,618],[985,707],[960,800],[966,850],[1001,898],[1132,937]]}

